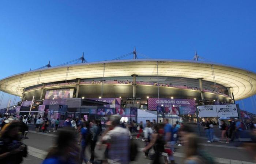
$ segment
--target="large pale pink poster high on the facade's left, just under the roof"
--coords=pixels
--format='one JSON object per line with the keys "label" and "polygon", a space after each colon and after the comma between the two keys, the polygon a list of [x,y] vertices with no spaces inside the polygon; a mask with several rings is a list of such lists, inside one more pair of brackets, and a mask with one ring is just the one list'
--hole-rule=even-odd
{"label": "large pale pink poster high on the facade's left, just under the roof", "polygon": [[58,98],[73,98],[74,89],[56,89],[47,90],[45,99],[58,99]]}

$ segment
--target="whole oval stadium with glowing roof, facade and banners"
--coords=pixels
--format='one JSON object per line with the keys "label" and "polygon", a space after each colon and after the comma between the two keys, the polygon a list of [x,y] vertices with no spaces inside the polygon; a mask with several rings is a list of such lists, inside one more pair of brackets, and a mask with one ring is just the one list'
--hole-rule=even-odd
{"label": "whole oval stadium with glowing roof, facade and banners", "polygon": [[256,93],[255,73],[219,63],[136,56],[90,63],[83,59],[79,64],[49,65],[1,79],[0,90],[22,101],[1,112],[62,120],[114,113],[137,118],[151,117],[162,106],[174,117],[177,107],[184,107],[183,115],[195,121],[197,105],[234,104]]}

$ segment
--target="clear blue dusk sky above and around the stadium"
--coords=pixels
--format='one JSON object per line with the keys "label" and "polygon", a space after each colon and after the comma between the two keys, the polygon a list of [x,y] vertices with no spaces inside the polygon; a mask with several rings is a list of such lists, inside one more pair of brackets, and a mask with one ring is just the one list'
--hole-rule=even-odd
{"label": "clear blue dusk sky above and around the stadium", "polygon": [[[192,60],[197,50],[204,61],[256,72],[256,1],[0,1],[0,78],[83,52],[89,62],[111,60],[134,46],[150,58]],[[256,113],[251,98],[237,103]]]}

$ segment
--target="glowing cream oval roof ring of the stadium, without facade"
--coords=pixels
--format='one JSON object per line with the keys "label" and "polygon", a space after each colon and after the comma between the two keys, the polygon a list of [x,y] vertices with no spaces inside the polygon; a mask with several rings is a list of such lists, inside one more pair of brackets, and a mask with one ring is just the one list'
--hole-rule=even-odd
{"label": "glowing cream oval roof ring of the stadium, without facade", "polygon": [[243,99],[256,93],[253,89],[256,88],[256,74],[251,71],[218,63],[171,59],[110,60],[49,67],[1,79],[0,90],[21,96],[25,89],[42,83],[67,82],[77,78],[99,79],[103,75],[105,78],[118,79],[131,77],[133,74],[138,77],[175,77],[181,81],[182,78],[203,78],[203,81],[212,84],[215,82],[218,88],[230,87],[235,99]]}

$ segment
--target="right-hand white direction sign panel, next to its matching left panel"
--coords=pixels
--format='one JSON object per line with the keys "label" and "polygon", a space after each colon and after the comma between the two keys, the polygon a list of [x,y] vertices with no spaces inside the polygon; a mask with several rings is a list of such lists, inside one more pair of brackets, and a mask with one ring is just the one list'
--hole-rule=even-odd
{"label": "right-hand white direction sign panel, next to its matching left panel", "polygon": [[230,105],[216,105],[218,117],[238,117],[237,106]]}

